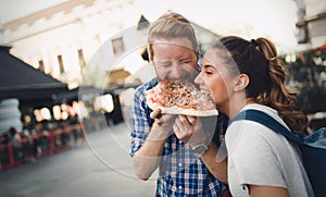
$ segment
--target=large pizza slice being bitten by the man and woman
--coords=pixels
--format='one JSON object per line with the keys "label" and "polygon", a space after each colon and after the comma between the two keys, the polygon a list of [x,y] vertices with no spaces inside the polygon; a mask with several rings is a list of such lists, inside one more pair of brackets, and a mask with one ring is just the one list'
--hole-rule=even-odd
{"label": "large pizza slice being bitten by the man and woman", "polygon": [[200,91],[188,81],[163,81],[146,91],[150,109],[162,113],[193,116],[217,115],[215,103],[206,91]]}

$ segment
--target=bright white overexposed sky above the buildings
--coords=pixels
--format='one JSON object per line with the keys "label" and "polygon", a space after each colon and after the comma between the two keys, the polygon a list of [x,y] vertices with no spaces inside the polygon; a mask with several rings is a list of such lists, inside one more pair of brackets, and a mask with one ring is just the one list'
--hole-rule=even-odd
{"label": "bright white overexposed sky above the buildings", "polygon": [[[0,0],[0,20],[5,23],[35,11],[67,0]],[[215,33],[226,33],[246,24],[252,27],[252,37],[266,36],[277,45],[292,48],[297,45],[294,0],[137,0],[136,7],[149,21],[166,10],[184,14],[190,21]]]}

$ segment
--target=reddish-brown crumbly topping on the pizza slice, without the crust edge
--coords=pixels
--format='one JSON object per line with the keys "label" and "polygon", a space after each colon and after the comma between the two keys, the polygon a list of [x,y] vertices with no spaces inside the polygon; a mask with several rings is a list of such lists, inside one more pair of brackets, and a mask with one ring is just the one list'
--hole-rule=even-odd
{"label": "reddish-brown crumbly topping on the pizza slice, without the crust edge", "polygon": [[188,81],[163,81],[146,91],[150,102],[164,108],[179,107],[200,111],[216,110],[208,91],[200,91]]}

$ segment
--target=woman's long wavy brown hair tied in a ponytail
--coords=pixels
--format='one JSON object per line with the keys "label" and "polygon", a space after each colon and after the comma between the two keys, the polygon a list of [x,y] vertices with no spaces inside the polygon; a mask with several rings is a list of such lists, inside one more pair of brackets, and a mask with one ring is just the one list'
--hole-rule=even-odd
{"label": "woman's long wavy brown hair tied in a ponytail", "polygon": [[233,74],[247,74],[246,98],[276,109],[292,131],[303,132],[306,116],[296,110],[297,94],[285,86],[286,72],[277,58],[276,47],[266,38],[246,40],[222,37],[213,48],[226,50],[226,63]]}

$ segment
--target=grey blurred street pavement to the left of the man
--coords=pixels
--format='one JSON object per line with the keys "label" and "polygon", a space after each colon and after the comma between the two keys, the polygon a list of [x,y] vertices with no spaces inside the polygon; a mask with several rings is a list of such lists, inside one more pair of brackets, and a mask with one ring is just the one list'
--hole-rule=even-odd
{"label": "grey blurred street pavement to the left of the man", "polygon": [[155,180],[145,182],[134,175],[125,123],[88,133],[86,139],[35,162],[0,171],[0,196],[154,196]]}

